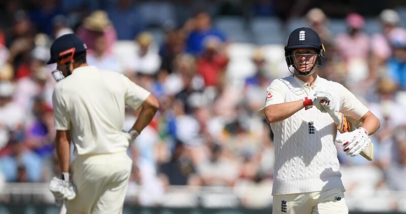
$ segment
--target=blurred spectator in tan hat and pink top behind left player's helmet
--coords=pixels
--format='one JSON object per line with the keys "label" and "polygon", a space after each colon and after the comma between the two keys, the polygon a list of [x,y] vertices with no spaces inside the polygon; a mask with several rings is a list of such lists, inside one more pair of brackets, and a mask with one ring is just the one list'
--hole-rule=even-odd
{"label": "blurred spectator in tan hat and pink top behind left player's helmet", "polygon": [[106,40],[107,52],[112,52],[113,44],[117,41],[117,33],[105,11],[97,10],[83,21],[77,30],[78,36],[87,45],[89,53],[95,49],[96,38],[103,35]]}

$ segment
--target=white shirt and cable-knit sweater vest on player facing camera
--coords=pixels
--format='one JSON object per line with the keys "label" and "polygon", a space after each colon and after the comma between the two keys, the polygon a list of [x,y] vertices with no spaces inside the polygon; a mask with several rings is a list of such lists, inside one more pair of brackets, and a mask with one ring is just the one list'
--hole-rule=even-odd
{"label": "white shirt and cable-knit sweater vest on player facing camera", "polygon": [[[302,100],[316,88],[332,90],[340,112],[360,119],[368,109],[343,85],[317,77],[313,86],[288,76],[267,89],[265,106]],[[270,124],[274,132],[275,168],[272,195],[306,193],[343,187],[334,145],[336,125],[316,107],[302,108],[287,119]]]}

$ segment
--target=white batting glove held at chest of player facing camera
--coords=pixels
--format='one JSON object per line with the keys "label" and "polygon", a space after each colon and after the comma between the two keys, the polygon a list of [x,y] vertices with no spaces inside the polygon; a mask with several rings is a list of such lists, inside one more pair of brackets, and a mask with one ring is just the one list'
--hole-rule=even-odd
{"label": "white batting glove held at chest of player facing camera", "polygon": [[316,89],[317,99],[315,106],[323,113],[328,113],[334,120],[336,125],[340,125],[343,121],[342,116],[339,114],[340,101],[335,99],[332,91]]}

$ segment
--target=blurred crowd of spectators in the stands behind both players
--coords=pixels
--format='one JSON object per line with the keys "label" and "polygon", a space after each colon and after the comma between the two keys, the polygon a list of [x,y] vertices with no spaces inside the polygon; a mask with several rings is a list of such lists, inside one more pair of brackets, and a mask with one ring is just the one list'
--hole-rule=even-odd
{"label": "blurred crowd of spectators in the stands behind both players", "polygon": [[[4,3],[0,15],[0,183],[48,182],[59,173],[51,102],[55,65],[46,62],[55,38],[76,33],[89,48],[89,65],[126,75],[160,101],[152,123],[128,151],[129,188],[142,187],[141,204],[159,203],[170,185],[272,186],[273,133],[257,112],[270,82],[289,73],[284,61],[280,68],[269,66],[266,53],[253,44],[253,73],[230,81],[239,76],[228,67],[235,44],[213,21],[235,10],[232,5],[23,2]],[[248,8],[251,16],[275,16],[272,2],[252,1]],[[381,120],[372,136],[375,160],[349,158],[337,145],[342,166],[371,166],[382,175],[375,188],[406,191],[406,30],[400,27],[406,20],[382,10],[375,17],[381,32],[368,35],[364,17],[349,13],[347,30],[333,35],[321,9],[303,18],[326,48],[318,74],[344,84]],[[157,28],[163,38],[154,34]],[[136,118],[137,111],[127,109],[124,128]]]}

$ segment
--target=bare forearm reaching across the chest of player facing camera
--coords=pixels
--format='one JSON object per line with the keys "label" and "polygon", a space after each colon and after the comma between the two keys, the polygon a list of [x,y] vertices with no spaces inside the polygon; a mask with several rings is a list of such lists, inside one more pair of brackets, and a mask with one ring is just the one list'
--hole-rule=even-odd
{"label": "bare forearm reaching across the chest of player facing camera", "polygon": [[266,106],[265,116],[268,123],[284,120],[304,107],[302,100]]}

